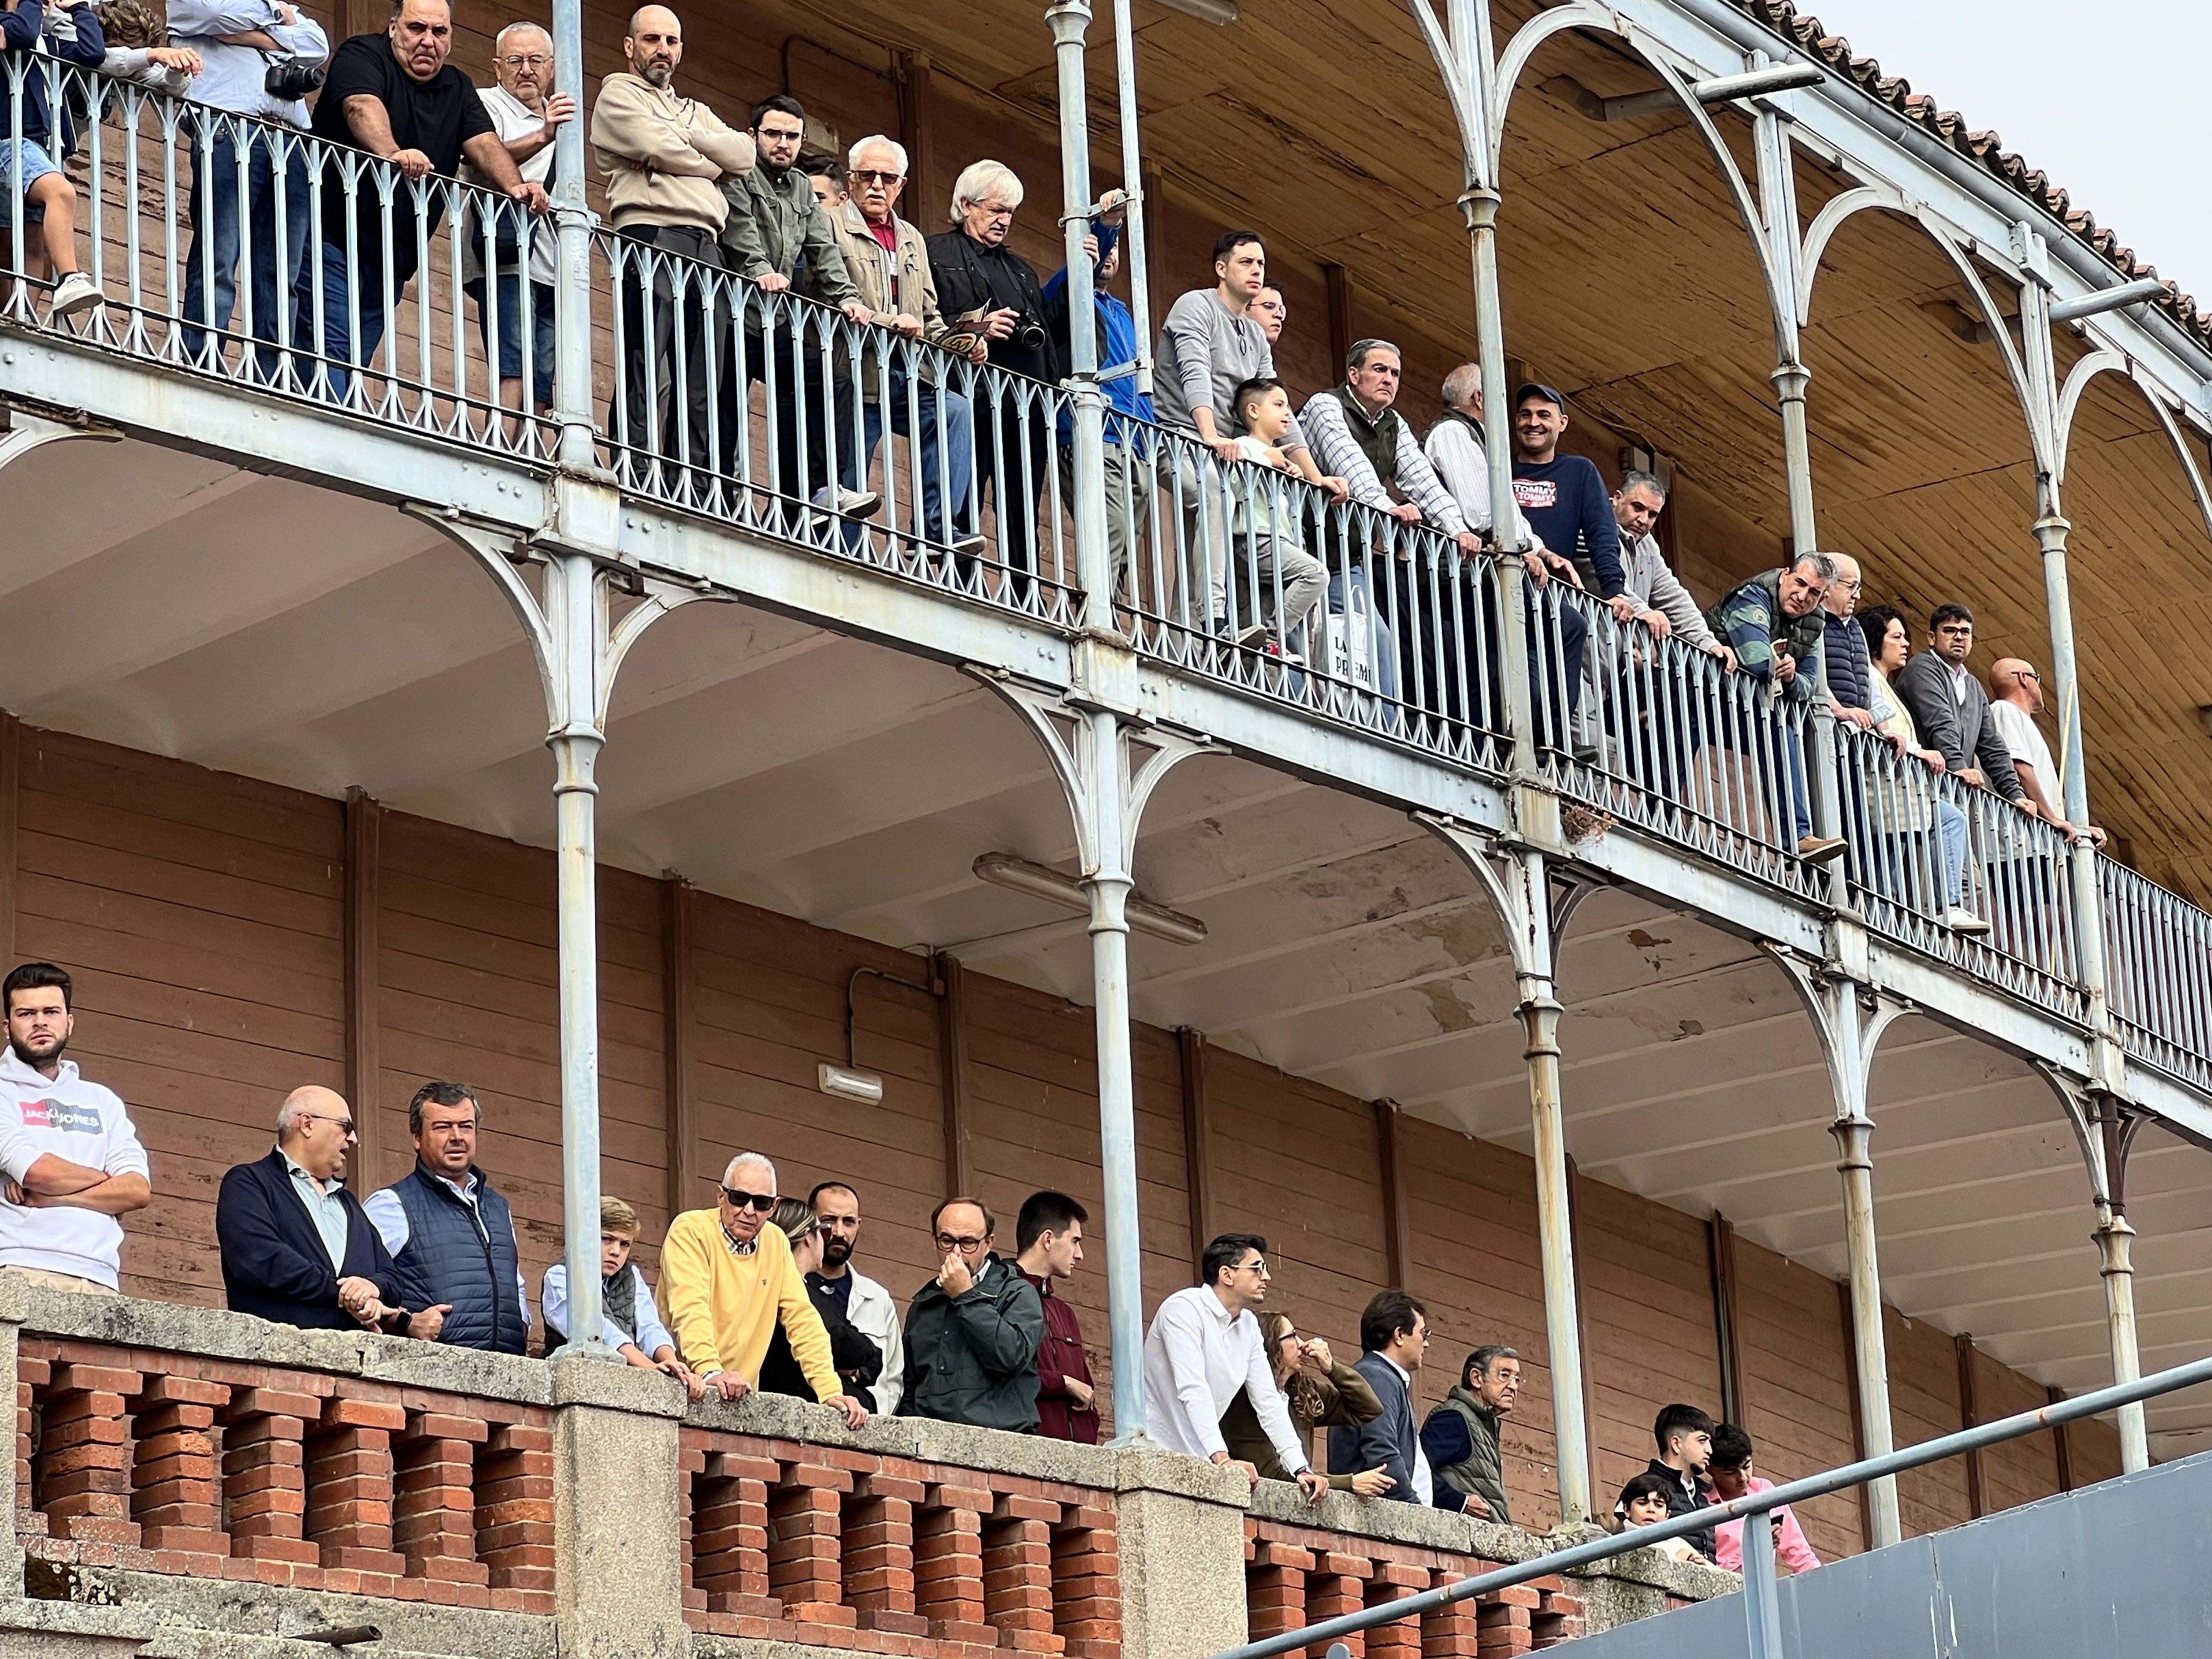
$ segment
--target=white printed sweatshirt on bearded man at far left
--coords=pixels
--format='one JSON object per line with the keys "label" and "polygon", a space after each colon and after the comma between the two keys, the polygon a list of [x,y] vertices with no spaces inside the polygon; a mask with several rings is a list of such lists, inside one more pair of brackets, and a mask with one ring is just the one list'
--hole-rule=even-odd
{"label": "white printed sweatshirt on bearded man at far left", "polygon": [[[113,1088],[88,1084],[64,1060],[49,1082],[7,1048],[0,1053],[0,1170],[13,1181],[53,1152],[108,1175],[148,1175],[131,1113]],[[97,1210],[31,1210],[0,1199],[0,1267],[44,1267],[115,1287],[124,1230]]]}

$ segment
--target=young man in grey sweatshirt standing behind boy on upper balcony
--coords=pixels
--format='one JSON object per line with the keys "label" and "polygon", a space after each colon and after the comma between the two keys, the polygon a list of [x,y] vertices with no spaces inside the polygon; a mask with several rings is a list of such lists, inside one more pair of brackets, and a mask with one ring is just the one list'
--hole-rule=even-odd
{"label": "young man in grey sweatshirt standing behind boy on upper balcony", "polygon": [[[1237,451],[1237,387],[1274,378],[1274,345],[1252,316],[1252,301],[1267,285],[1267,246],[1256,230],[1230,230],[1214,243],[1214,285],[1192,288],[1168,307],[1159,325],[1152,400],[1159,420],[1212,449],[1177,445],[1179,495],[1183,504],[1183,582],[1197,593],[1203,582],[1203,628],[1228,626],[1228,573],[1234,544],[1221,513],[1223,469],[1241,465]],[[1283,440],[1292,465],[1332,498],[1345,500],[1343,478],[1325,478],[1292,422]],[[1217,628],[1217,630],[1219,630]]]}

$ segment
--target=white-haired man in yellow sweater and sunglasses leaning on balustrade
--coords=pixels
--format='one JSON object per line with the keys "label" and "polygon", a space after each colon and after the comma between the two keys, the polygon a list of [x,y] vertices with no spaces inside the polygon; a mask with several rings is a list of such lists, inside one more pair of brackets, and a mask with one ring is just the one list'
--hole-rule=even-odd
{"label": "white-haired man in yellow sweater and sunglasses leaning on balustrade", "polygon": [[845,1394],[830,1358],[830,1332],[807,1296],[790,1239],[770,1228],[776,1166],[739,1152],[721,1172],[721,1203],[686,1210],[661,1243],[661,1321],[684,1363],[723,1400],[743,1400],[761,1383],[768,1338],[783,1327],[814,1398],[845,1425],[867,1422],[867,1407]]}

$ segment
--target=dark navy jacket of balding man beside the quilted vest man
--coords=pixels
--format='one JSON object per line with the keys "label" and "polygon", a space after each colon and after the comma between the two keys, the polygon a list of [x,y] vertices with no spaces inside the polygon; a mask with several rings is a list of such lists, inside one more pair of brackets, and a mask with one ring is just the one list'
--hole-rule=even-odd
{"label": "dark navy jacket of balding man beside the quilted vest man", "polygon": [[323,1234],[292,1190],[292,1172],[274,1148],[259,1164],[223,1172],[215,1199],[215,1241],[223,1252],[223,1296],[234,1314],[314,1332],[354,1332],[361,1323],[338,1307],[338,1279],[369,1279],[387,1305],[418,1314],[376,1223],[345,1192],[345,1272],[330,1270]]}

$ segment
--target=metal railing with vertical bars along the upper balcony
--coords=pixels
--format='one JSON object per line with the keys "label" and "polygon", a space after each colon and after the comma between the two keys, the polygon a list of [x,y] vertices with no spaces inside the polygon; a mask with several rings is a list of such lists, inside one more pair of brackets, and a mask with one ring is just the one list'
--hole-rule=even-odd
{"label": "metal railing with vertical bars along the upper balcony", "polygon": [[[27,111],[66,115],[73,246],[102,301],[53,312],[44,228],[15,210],[18,146],[0,166],[0,323],[553,462],[564,301],[544,219],[44,53],[0,60],[0,93],[18,133]],[[591,237],[597,449],[630,491],[1079,626],[1068,392],[768,292],[697,252]],[[1869,927],[2086,1020],[2079,918],[2048,825],[1865,734],[1832,743],[1809,703],[1621,624],[1595,595],[1223,460],[1188,431],[1110,411],[1106,462],[1099,580],[1139,653],[1493,776],[1513,763],[1524,710],[1537,774],[1601,823],[1807,900],[1829,887],[1798,841],[1812,785],[1834,776]],[[2115,1020],[2130,1051],[2212,1088],[2212,916],[2104,872]],[[1989,931],[1955,927],[1960,911]]]}

